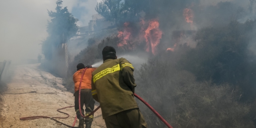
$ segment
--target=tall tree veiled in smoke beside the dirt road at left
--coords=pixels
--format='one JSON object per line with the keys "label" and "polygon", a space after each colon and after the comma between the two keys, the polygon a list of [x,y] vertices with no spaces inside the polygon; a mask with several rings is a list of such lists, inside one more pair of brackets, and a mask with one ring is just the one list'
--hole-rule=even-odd
{"label": "tall tree veiled in smoke beside the dirt road at left", "polygon": [[74,18],[74,16],[68,12],[67,7],[62,8],[62,0],[57,0],[56,4],[56,12],[48,10],[48,15],[52,19],[50,22],[48,21],[48,37],[42,43],[42,52],[48,60],[52,57],[52,48],[56,48],[60,44],[65,43],[71,37],[75,36],[78,31],[78,26],[76,26],[78,19]]}

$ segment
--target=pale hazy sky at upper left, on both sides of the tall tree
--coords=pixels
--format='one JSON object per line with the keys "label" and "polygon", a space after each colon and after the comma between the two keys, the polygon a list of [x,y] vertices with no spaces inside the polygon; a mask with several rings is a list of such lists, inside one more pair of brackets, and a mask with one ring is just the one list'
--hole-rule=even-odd
{"label": "pale hazy sky at upper left, on both sides of the tall tree", "polygon": [[[79,26],[87,26],[97,1],[63,0],[80,21]],[[47,37],[47,9],[55,11],[56,0],[0,0],[0,62],[14,62],[37,59],[42,53],[41,43]]]}

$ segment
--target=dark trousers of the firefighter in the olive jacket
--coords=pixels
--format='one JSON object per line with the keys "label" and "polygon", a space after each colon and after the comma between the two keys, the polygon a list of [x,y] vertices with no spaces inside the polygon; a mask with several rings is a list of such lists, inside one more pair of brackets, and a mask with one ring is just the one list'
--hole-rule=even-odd
{"label": "dark trousers of the firefighter in the olive jacket", "polygon": [[105,119],[107,128],[147,128],[147,124],[138,108],[119,112]]}

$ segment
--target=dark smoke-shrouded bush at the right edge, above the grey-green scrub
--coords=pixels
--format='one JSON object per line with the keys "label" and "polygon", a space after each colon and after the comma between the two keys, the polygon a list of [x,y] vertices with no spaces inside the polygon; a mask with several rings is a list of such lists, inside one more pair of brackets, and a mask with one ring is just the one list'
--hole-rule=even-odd
{"label": "dark smoke-shrouded bush at the right edge, above the grey-green scrub", "polygon": [[251,61],[256,56],[248,50],[255,24],[252,20],[244,24],[234,21],[228,26],[199,30],[195,36],[197,47],[181,57],[180,68],[200,81],[238,85],[246,98],[256,98],[256,61]]}

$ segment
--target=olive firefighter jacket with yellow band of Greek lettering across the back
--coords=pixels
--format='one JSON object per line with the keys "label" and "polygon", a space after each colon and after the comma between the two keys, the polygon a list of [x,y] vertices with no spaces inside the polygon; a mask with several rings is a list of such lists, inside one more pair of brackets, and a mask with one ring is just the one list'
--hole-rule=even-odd
{"label": "olive firefighter jacket with yellow band of Greek lettering across the back", "polygon": [[92,72],[92,97],[100,102],[103,119],[116,113],[138,108],[132,64],[125,58],[108,59]]}

